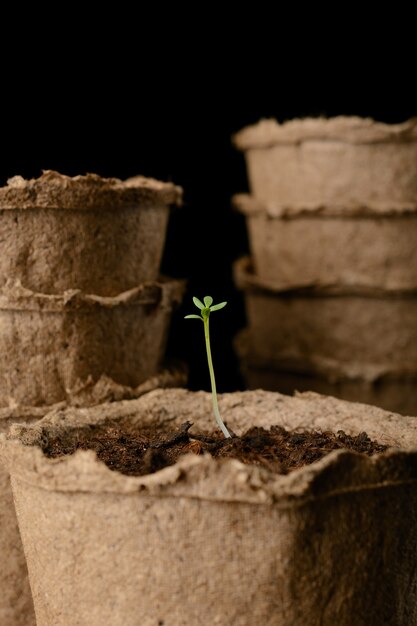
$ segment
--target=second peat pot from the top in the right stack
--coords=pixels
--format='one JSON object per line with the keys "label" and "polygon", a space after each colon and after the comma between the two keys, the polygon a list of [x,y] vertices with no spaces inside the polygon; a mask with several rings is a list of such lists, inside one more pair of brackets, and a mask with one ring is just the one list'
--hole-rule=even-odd
{"label": "second peat pot from the top in the right stack", "polygon": [[271,210],[245,194],[233,204],[246,216],[255,274],[276,288],[417,287],[417,207]]}

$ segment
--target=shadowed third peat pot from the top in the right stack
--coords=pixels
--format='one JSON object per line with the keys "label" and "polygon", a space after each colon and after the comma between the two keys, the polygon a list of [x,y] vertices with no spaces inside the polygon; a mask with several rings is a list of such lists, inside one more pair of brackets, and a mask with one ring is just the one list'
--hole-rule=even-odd
{"label": "shadowed third peat pot from the top in the right stack", "polygon": [[275,289],[235,264],[253,345],[266,361],[320,359],[368,380],[417,373],[417,295],[359,288]]}

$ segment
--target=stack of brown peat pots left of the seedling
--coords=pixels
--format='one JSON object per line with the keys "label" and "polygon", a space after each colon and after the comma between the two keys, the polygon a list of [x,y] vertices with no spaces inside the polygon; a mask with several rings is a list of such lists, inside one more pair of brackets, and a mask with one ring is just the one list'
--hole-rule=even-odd
{"label": "stack of brown peat pots left of the seedling", "polygon": [[[52,406],[182,384],[163,356],[182,281],[159,277],[182,190],[47,171],[0,189],[0,432]],[[35,623],[9,479],[0,468],[0,624]]]}

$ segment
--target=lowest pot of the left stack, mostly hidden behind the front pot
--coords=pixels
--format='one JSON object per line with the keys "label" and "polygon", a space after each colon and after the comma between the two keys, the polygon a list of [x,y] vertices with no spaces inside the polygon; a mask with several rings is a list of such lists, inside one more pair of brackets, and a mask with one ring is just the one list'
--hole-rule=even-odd
{"label": "lowest pot of the left stack, mostly hidden behind the front pot", "polygon": [[[122,388],[110,380],[100,380],[72,396],[69,400],[77,404],[82,400],[90,405],[109,402],[116,398],[139,398],[156,388],[185,385],[186,371],[183,366],[173,365],[161,370],[135,389]],[[43,407],[15,407],[0,409],[0,433],[6,432],[12,424],[34,423],[47,412],[63,409],[65,403]],[[108,410],[102,405],[102,410]],[[10,479],[5,468],[0,464],[0,624],[1,626],[35,626],[35,613],[29,588],[26,560],[20,539]],[[88,622],[87,622],[88,623]]]}

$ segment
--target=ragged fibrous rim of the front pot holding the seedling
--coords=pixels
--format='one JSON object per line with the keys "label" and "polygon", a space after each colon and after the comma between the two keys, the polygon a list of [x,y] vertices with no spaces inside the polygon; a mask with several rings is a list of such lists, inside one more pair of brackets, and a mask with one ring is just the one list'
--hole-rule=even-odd
{"label": "ragged fibrous rim of the front pot holding the seedling", "polygon": [[[93,451],[79,450],[72,456],[48,459],[36,445],[44,441],[48,433],[88,428],[93,424],[108,423],[112,419],[141,425],[172,423],[175,419],[178,423],[183,419],[181,411],[187,405],[187,399],[188,403],[190,399],[191,403],[196,399],[206,408],[210,407],[211,397],[208,393],[171,389],[156,390],[138,400],[100,405],[91,409],[55,410],[36,424],[15,425],[8,437],[0,436],[0,455],[13,480],[36,485],[40,489],[60,492],[185,497],[287,507],[355,493],[358,490],[384,489],[417,483],[417,425],[413,418],[396,416],[376,407],[312,393],[291,398],[273,392],[248,391],[224,394],[220,400],[226,419],[230,417],[234,428],[237,419],[236,409],[239,415],[246,411],[243,423],[255,415],[256,411],[259,412],[262,403],[274,406],[275,418],[271,417],[270,422],[272,425],[279,423],[277,416],[282,413],[283,407],[286,407],[287,415],[292,415],[297,406],[300,410],[301,405],[312,403],[313,412],[316,411],[319,415],[327,403],[327,416],[328,418],[332,416],[334,424],[338,423],[338,420],[340,422],[342,414],[346,418],[346,423],[349,420],[353,423],[359,416],[362,428],[365,428],[370,436],[372,436],[370,429],[378,432],[381,432],[381,428],[385,429],[387,433],[402,435],[402,441],[397,441],[402,447],[392,447],[387,452],[371,458],[338,450],[312,465],[294,470],[285,476],[273,474],[264,468],[244,465],[236,460],[217,462],[208,455],[199,457],[189,454],[175,465],[155,474],[131,477],[107,468],[103,462],[97,460]],[[174,406],[176,401],[177,404]],[[231,409],[233,415],[228,409]],[[269,413],[267,415],[269,417]],[[252,422],[255,425],[256,419]],[[306,423],[307,418],[303,419]],[[285,419],[281,420],[281,424],[285,426]],[[310,424],[317,428],[314,420]],[[336,426],[334,428],[336,429]],[[348,425],[345,428],[349,430]],[[386,435],[387,437],[390,438],[389,435]],[[391,437],[391,441],[395,439]]]}

